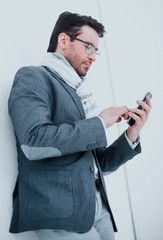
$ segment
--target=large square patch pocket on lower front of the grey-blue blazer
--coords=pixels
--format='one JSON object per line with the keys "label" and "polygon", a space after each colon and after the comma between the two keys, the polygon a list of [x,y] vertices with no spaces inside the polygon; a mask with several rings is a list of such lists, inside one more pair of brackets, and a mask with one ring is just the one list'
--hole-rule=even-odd
{"label": "large square patch pocket on lower front of the grey-blue blazer", "polygon": [[28,213],[32,219],[67,218],[73,213],[70,171],[29,174]]}

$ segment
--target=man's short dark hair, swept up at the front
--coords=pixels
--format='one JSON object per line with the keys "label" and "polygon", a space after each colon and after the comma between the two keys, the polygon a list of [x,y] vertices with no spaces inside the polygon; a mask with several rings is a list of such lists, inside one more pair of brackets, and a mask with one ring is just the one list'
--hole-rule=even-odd
{"label": "man's short dark hair, swept up at the front", "polygon": [[61,13],[50,37],[47,52],[56,51],[58,44],[58,36],[60,33],[64,32],[76,37],[81,33],[81,27],[84,25],[93,28],[98,33],[99,37],[103,37],[105,33],[104,26],[96,19],[93,19],[90,16],[82,16],[78,13],[71,13],[68,11]]}

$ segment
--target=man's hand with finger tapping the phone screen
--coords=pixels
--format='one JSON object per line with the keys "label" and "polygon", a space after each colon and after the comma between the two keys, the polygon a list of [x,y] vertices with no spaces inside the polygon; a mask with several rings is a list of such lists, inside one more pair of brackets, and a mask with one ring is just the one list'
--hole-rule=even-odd
{"label": "man's hand with finger tapping the phone screen", "polygon": [[124,119],[128,118],[128,108],[126,106],[122,107],[109,107],[104,109],[99,115],[100,118],[105,123],[105,127],[111,127],[114,123],[120,122],[122,117]]}

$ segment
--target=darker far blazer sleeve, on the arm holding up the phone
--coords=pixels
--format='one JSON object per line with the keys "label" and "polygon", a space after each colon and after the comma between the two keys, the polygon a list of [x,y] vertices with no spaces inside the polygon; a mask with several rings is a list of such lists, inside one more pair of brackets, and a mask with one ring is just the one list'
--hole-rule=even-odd
{"label": "darker far blazer sleeve, on the arm holding up the phone", "polygon": [[117,170],[122,164],[131,160],[137,154],[141,153],[140,143],[135,149],[132,149],[125,133],[123,133],[110,146],[96,150],[97,159],[103,173],[109,173]]}

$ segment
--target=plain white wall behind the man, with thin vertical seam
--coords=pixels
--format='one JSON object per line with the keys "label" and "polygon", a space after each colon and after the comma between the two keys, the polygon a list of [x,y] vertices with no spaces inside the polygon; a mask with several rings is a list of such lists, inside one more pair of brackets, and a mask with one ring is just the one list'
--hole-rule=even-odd
{"label": "plain white wall behind the man, with thin vertical seam", "polygon": [[[115,102],[134,107],[147,90],[154,95],[150,119],[141,133],[143,153],[107,176],[106,184],[119,229],[116,240],[162,240],[163,2],[159,0],[0,0],[0,239],[37,239],[32,232],[8,233],[17,162],[7,99],[17,69],[40,64],[55,21],[65,10],[91,15],[106,26],[105,39],[100,40],[102,55],[88,74],[100,109]],[[125,128],[122,122],[108,130],[108,142]]]}

